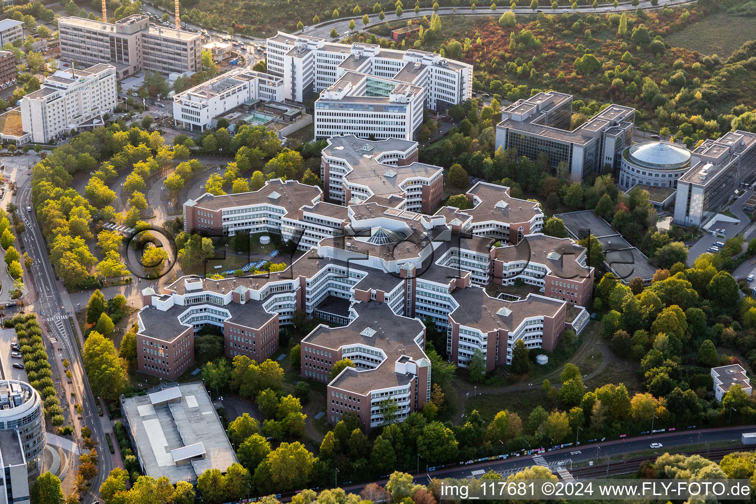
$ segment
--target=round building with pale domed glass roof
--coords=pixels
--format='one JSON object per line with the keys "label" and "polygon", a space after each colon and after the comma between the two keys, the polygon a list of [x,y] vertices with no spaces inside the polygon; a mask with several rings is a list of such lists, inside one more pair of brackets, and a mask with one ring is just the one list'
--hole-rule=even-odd
{"label": "round building with pale domed glass roof", "polygon": [[646,142],[627,147],[622,153],[619,183],[677,189],[677,179],[690,168],[690,151],[666,142]]}

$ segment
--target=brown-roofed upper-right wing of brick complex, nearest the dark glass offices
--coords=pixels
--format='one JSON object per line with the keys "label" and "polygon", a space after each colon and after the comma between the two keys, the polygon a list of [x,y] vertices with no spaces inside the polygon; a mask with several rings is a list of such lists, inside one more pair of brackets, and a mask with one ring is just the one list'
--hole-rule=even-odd
{"label": "brown-roofed upper-right wing of brick complex, nearest the dark glass offices", "polygon": [[538,203],[510,196],[510,188],[478,182],[466,193],[472,209],[454,206],[438,209],[455,233],[491,237],[515,245],[526,234],[538,233],[544,227],[544,213]]}

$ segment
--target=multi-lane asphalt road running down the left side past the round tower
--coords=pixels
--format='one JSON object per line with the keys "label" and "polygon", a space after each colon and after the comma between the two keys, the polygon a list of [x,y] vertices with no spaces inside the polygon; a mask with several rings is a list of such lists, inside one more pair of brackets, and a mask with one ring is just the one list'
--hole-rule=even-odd
{"label": "multi-lane asphalt road running down the left side past the round tower", "polygon": [[[81,401],[79,404],[82,405],[83,409],[81,416],[76,416],[76,412],[73,410],[70,412],[76,425],[76,440],[79,440],[79,431],[82,425],[88,425],[91,429],[92,438],[99,443],[98,451],[101,453],[98,456],[98,476],[92,481],[91,485],[93,491],[90,491],[82,498],[82,502],[87,504],[95,500],[102,481],[104,478],[107,478],[107,475],[113,469],[113,461],[110,458],[110,453],[107,451],[107,439],[100,425],[97,403],[89,388],[89,383],[84,373],[82,357],[74,341],[76,335],[70,326],[67,311],[64,308],[60,284],[55,280],[55,273],[50,264],[36,216],[33,215],[33,212],[26,210],[26,207],[32,204],[31,197],[32,188],[29,181],[26,181],[20,187],[16,204],[19,207],[21,218],[24,224],[26,224],[26,232],[21,234],[23,246],[26,252],[34,258],[34,263],[30,268],[37,289],[37,300],[34,305],[34,311],[40,314],[40,317],[48,323],[51,335],[57,339],[57,345],[53,345],[54,358],[60,359],[61,357],[65,357],[70,362],[69,369],[73,373],[73,384],[66,385],[67,393],[73,387],[73,390],[76,391],[76,397]],[[29,288],[31,289],[31,286]]]}

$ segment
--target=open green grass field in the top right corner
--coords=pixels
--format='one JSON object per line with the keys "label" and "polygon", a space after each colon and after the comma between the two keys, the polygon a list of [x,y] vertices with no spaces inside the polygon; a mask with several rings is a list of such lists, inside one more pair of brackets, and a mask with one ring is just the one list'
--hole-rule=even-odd
{"label": "open green grass field in the top right corner", "polygon": [[756,26],[752,17],[731,16],[725,12],[712,14],[689,24],[685,29],[665,38],[672,47],[681,47],[701,54],[719,54],[727,58],[744,42],[754,38]]}

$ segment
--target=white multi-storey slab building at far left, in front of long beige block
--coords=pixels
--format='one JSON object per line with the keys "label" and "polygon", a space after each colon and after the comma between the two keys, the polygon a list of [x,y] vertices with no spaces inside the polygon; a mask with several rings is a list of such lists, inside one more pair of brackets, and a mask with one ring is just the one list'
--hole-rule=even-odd
{"label": "white multi-storey slab building at far left, in front of long beige block", "polygon": [[103,116],[118,100],[116,69],[98,64],[86,70],[57,70],[42,88],[20,100],[23,131],[33,142],[47,143],[70,129],[104,125]]}

